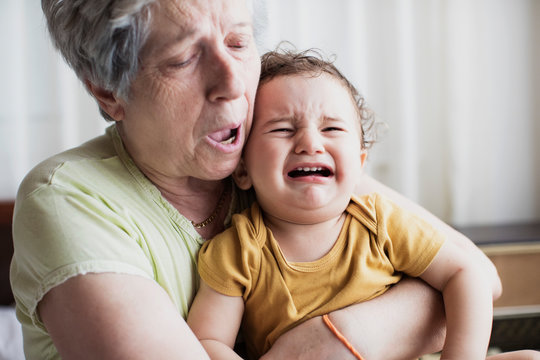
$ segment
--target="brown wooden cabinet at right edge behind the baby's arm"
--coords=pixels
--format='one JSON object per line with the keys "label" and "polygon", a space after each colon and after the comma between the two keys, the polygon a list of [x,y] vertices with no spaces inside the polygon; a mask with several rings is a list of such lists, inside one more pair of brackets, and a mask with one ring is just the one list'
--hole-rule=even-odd
{"label": "brown wooden cabinet at right edge behind the baby's arm", "polygon": [[540,223],[459,230],[493,261],[503,285],[494,304],[492,346],[540,349]]}

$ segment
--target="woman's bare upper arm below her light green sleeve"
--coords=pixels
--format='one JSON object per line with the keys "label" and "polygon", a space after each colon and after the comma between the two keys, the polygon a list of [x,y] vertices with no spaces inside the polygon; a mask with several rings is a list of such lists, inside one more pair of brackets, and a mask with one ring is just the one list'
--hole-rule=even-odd
{"label": "woman's bare upper arm below her light green sleeve", "polygon": [[38,310],[62,359],[208,359],[165,291],[140,276],[79,275]]}

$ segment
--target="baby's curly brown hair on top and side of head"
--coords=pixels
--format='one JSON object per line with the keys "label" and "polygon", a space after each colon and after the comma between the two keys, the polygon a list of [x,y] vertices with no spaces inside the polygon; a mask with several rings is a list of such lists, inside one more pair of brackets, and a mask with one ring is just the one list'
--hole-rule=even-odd
{"label": "baby's curly brown hair on top and side of head", "polygon": [[362,148],[370,148],[376,138],[373,112],[366,106],[365,99],[354,85],[335,67],[332,60],[323,56],[320,50],[308,49],[298,52],[280,44],[276,50],[269,51],[261,57],[259,86],[278,76],[310,75],[317,77],[323,72],[337,79],[349,91],[360,119]]}

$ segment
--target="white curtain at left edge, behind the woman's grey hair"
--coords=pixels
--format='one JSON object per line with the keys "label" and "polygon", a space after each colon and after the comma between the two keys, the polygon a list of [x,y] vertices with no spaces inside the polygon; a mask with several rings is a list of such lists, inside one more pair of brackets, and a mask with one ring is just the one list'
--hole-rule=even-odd
{"label": "white curtain at left edge, behind the woman's grey hair", "polygon": [[0,200],[45,158],[107,123],[49,40],[39,0],[0,1]]}

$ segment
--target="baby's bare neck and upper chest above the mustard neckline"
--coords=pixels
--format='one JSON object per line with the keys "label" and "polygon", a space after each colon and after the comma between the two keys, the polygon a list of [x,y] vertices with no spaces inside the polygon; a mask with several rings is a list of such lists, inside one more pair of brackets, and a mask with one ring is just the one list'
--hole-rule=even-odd
{"label": "baby's bare neck and upper chest above the mustard neckline", "polygon": [[265,215],[265,224],[289,262],[315,261],[336,243],[345,222],[345,213],[315,224],[297,224]]}

